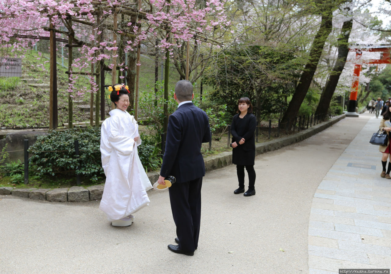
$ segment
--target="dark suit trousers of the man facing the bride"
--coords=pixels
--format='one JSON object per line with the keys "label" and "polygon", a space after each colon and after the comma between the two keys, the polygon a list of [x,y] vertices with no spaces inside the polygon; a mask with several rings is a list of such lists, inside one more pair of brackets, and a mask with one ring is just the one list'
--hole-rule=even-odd
{"label": "dark suit trousers of the man facing the bride", "polygon": [[179,248],[186,252],[198,246],[201,223],[202,177],[174,183],[169,188],[172,217],[176,225]]}

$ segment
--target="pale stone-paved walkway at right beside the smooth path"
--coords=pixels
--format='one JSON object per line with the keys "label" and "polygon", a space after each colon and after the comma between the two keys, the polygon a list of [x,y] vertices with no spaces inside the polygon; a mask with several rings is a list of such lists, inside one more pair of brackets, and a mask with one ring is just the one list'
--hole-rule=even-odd
{"label": "pale stone-paved walkway at right beside the smooth path", "polygon": [[312,274],[391,267],[391,180],[369,143],[380,119],[369,119],[326,174],[312,200],[308,266]]}

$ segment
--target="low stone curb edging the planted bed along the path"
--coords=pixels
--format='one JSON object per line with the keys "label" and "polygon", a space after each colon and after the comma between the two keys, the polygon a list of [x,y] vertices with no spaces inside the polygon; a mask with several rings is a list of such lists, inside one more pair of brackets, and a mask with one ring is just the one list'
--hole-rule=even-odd
{"label": "low stone curb edging the planted bed along the path", "polygon": [[[273,141],[263,142],[255,145],[256,155],[273,151],[283,146],[288,146],[296,142],[303,141],[315,135],[316,133],[325,130],[329,126],[334,125],[338,121],[344,119],[345,114],[333,117],[332,119],[312,126],[306,130],[295,133],[288,137],[279,138]],[[213,169],[219,169],[230,165],[232,163],[232,153],[230,151],[222,152],[215,156],[209,156],[204,158],[205,171],[211,171]],[[159,178],[158,172],[149,172],[149,181],[153,185]],[[36,200],[46,200],[50,202],[86,202],[95,201],[102,198],[104,184],[93,185],[91,187],[71,187],[70,189],[13,189],[12,187],[0,187],[0,195],[14,195],[18,197],[25,197]]]}

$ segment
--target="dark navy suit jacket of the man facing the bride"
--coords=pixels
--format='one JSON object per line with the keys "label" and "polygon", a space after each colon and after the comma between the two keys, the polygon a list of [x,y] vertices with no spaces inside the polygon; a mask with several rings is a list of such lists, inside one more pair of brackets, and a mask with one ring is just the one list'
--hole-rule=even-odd
{"label": "dark navy suit jacket of the man facing the bride", "polygon": [[160,175],[174,176],[186,182],[205,175],[201,143],[209,142],[211,133],[206,113],[193,103],[185,103],[170,115]]}

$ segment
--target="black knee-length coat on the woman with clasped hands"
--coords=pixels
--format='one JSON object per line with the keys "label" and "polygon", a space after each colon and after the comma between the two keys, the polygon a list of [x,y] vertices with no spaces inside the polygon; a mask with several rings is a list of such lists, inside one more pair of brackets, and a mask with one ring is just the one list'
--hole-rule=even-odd
{"label": "black knee-length coat on the woman with clasped hands", "polygon": [[[235,165],[254,165],[255,161],[255,127],[256,118],[252,113],[243,118],[239,114],[233,116],[231,124],[232,142],[238,146],[232,149],[232,163]],[[244,138],[244,144],[239,141]]]}

